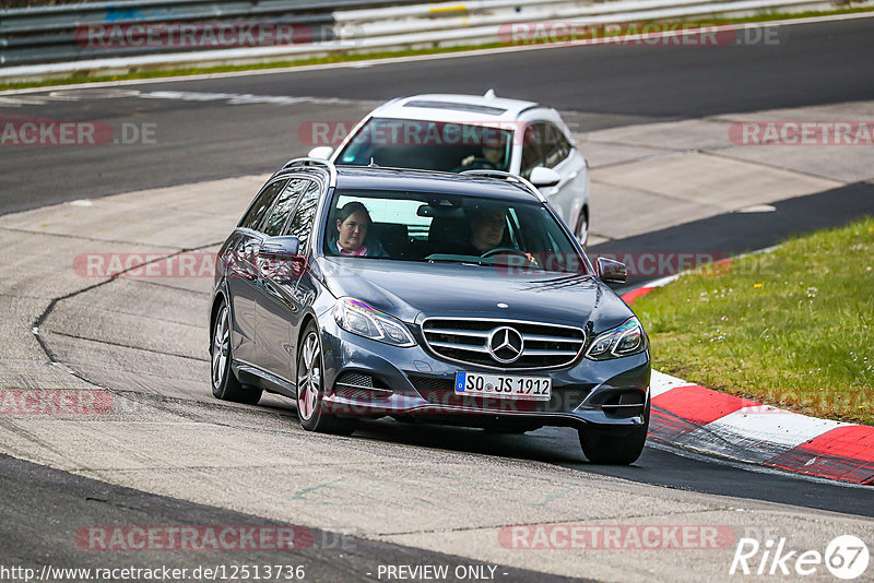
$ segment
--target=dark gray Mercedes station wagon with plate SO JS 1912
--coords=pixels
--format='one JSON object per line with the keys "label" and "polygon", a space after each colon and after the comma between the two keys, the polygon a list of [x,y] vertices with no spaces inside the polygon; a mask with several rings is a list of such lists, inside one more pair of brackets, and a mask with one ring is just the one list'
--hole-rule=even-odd
{"label": "dark gray Mercedes station wagon with plate SO JS 1912", "polygon": [[649,424],[649,340],[527,180],[286,164],[216,261],[213,394],[294,398],[300,425],[361,419],[579,431],[629,464]]}

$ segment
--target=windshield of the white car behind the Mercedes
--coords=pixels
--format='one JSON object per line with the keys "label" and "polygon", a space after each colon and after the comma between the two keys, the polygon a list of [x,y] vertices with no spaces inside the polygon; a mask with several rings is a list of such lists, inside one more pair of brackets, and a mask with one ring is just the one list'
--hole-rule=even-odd
{"label": "windshield of the white car behind the Mercedes", "polygon": [[476,123],[371,118],[336,157],[338,164],[391,168],[507,170],[512,129]]}

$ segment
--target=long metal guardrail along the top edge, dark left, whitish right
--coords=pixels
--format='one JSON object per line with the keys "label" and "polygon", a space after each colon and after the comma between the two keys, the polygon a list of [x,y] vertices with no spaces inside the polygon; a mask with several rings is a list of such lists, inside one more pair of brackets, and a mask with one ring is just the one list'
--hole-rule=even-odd
{"label": "long metal guardrail along the top edge, dark left, whitish right", "polygon": [[[293,60],[501,43],[513,23],[680,21],[768,11],[827,10],[838,0],[120,0],[0,10],[0,79],[32,80],[92,71]],[[872,7],[874,0],[859,5]],[[87,24],[294,23],[305,41],[269,46],[83,46]],[[181,25],[180,25],[181,26]]]}

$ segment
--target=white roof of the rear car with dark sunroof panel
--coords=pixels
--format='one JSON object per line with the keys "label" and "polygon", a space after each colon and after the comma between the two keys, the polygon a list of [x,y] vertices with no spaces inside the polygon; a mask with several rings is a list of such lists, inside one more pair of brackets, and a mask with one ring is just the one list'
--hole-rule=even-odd
{"label": "white roof of the rear car with dark sunroof panel", "polygon": [[[374,117],[427,119],[449,122],[515,121],[524,109],[539,106],[534,102],[482,95],[426,94],[388,102],[371,112]],[[540,106],[544,107],[544,106]]]}

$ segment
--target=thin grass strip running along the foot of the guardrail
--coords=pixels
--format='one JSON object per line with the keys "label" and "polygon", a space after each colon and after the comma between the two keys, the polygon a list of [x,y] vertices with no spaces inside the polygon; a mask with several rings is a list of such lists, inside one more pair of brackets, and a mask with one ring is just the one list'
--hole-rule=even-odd
{"label": "thin grass strip running along the foot of the guardrail", "polygon": [[[790,19],[806,19],[813,16],[829,16],[836,14],[855,14],[862,12],[874,12],[874,8],[870,7],[862,7],[862,8],[845,8],[845,9],[837,9],[830,11],[807,11],[807,12],[794,12],[794,13],[784,13],[784,12],[763,12],[760,14],[756,14],[753,16],[745,16],[745,17],[736,17],[736,19],[697,19],[696,22],[706,23],[708,25],[724,25],[724,24],[746,24],[746,23],[757,23],[757,22],[768,22],[768,21],[778,21],[778,20],[790,20]],[[648,22],[648,21],[647,21]],[[680,21],[682,22],[682,21]],[[641,23],[642,24],[642,23]],[[665,23],[662,23],[665,24]],[[627,26],[627,24],[626,24]],[[623,34],[622,31],[614,32],[614,35]],[[603,35],[598,35],[599,37]],[[584,39],[586,37],[579,37],[579,39]],[[547,43],[531,43],[531,45],[543,45]],[[557,46],[563,46],[562,43],[557,44]],[[449,53],[449,52],[465,52],[471,50],[482,50],[482,49],[491,49],[491,48],[504,48],[508,47],[506,43],[491,43],[491,44],[483,44],[483,45],[463,45],[457,47],[433,47],[433,48],[424,48],[424,49],[399,49],[399,50],[385,50],[385,51],[375,51],[375,52],[366,52],[366,53],[351,53],[351,52],[343,52],[336,53],[329,57],[320,57],[320,58],[306,58],[306,59],[297,59],[297,60],[279,60],[279,61],[270,61],[264,63],[249,63],[249,64],[223,64],[223,66],[215,66],[215,67],[188,67],[188,68],[153,68],[153,69],[144,69],[140,71],[133,71],[126,74],[118,74],[118,75],[101,75],[99,73],[93,72],[82,72],[75,73],[69,76],[52,76],[50,79],[45,79],[42,81],[28,81],[28,82],[15,82],[15,83],[0,83],[0,91],[8,91],[8,90],[21,90],[21,88],[29,88],[29,87],[49,87],[54,85],[69,85],[69,84],[79,84],[79,83],[98,83],[98,82],[107,82],[107,81],[127,81],[127,80],[149,80],[149,79],[161,79],[161,78],[168,78],[168,76],[187,76],[187,75],[202,75],[202,74],[215,74],[215,73],[229,73],[229,72],[238,72],[238,71],[259,71],[259,70],[269,70],[269,69],[286,69],[290,67],[306,67],[312,64],[327,64],[327,63],[334,63],[334,62],[354,62],[354,61],[363,61],[363,60],[374,60],[374,59],[388,59],[388,58],[402,58],[402,57],[415,57],[422,55],[440,55],[440,53]]]}

